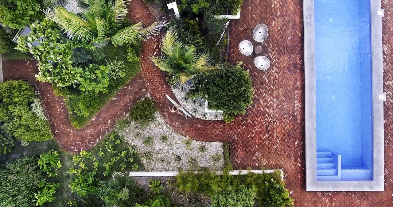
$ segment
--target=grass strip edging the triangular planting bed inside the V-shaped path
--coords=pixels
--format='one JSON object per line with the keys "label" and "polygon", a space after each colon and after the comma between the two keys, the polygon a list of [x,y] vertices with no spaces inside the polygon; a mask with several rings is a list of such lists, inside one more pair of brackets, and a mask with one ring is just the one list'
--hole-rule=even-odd
{"label": "grass strip edging the triangular planting bed inside the V-shaped path", "polygon": [[[136,55],[138,55],[139,57],[140,44],[131,45],[131,47],[134,49]],[[127,45],[115,47],[110,44],[107,47],[103,48],[103,51],[105,51],[105,60],[101,62],[102,64],[106,64],[106,61],[109,62],[110,60],[122,60],[125,63],[124,70],[126,71],[126,73],[125,77],[121,77],[117,79],[117,81],[114,81],[113,79],[110,80],[107,93],[98,93],[98,96],[96,98],[98,99],[99,104],[97,105],[97,107],[91,110],[88,116],[84,117],[75,113],[75,108],[81,100],[82,93],[80,90],[72,87],[66,90],[59,90],[57,88],[54,88],[57,95],[63,96],[64,102],[66,103],[66,106],[68,108],[68,113],[70,114],[71,124],[77,129],[83,128],[90,121],[90,119],[92,119],[94,115],[97,114],[97,112],[99,112],[99,110],[101,110],[101,108],[105,106],[119,92],[119,90],[121,90],[123,86],[127,84],[141,70],[140,62],[127,61]]]}

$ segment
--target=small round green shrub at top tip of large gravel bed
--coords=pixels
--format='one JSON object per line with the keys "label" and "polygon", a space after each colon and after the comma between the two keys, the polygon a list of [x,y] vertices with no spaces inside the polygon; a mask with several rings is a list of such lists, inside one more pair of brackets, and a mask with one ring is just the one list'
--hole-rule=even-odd
{"label": "small round green shrub at top tip of large gravel bed", "polygon": [[150,97],[145,97],[143,100],[136,102],[130,110],[130,119],[133,121],[138,121],[143,119],[145,121],[152,121],[154,119],[154,114],[157,112],[156,105]]}

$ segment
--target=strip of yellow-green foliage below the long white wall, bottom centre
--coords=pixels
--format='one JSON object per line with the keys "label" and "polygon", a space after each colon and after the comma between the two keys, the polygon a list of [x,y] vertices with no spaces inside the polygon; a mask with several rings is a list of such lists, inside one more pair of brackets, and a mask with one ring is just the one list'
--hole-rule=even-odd
{"label": "strip of yellow-green foliage below the long white wall, bottom centre", "polygon": [[[176,176],[175,186],[181,192],[203,192],[209,195],[212,202],[218,206],[227,206],[226,203],[250,202],[251,198],[246,198],[244,191],[249,196],[255,197],[255,202],[260,205],[274,207],[293,205],[293,200],[289,197],[288,190],[285,189],[285,183],[281,180],[281,172],[265,174],[248,172],[245,175],[230,175],[229,169],[230,166],[224,168],[224,174],[221,176],[209,170],[200,173],[180,171]],[[246,190],[242,186],[249,189]]]}

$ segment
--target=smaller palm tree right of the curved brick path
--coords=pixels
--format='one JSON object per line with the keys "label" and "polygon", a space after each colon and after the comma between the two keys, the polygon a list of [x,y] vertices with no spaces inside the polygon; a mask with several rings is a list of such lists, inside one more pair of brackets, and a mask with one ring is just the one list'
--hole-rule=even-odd
{"label": "smaller palm tree right of the curved brick path", "polygon": [[210,57],[207,53],[196,54],[195,46],[184,44],[178,40],[178,33],[169,29],[163,37],[160,45],[163,56],[153,56],[151,60],[158,68],[167,73],[169,85],[176,84],[190,88],[191,81],[198,75],[208,75],[219,66],[210,64]]}

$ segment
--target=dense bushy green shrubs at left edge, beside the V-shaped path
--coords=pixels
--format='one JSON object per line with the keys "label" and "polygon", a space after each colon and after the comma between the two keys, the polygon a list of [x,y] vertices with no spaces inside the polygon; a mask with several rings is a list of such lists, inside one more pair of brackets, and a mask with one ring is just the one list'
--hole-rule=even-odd
{"label": "dense bushy green shrubs at left edge, beside the V-shaped path", "polygon": [[28,144],[53,138],[33,86],[21,80],[0,83],[0,125],[2,154],[11,151],[15,139]]}

